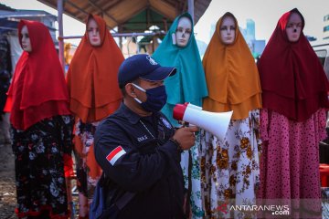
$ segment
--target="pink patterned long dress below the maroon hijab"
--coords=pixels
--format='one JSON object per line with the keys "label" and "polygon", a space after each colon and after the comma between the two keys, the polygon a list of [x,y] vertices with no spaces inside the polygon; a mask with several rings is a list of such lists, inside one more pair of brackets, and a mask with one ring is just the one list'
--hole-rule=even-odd
{"label": "pink patterned long dress below the maroon hijab", "polygon": [[261,157],[263,195],[271,199],[320,197],[318,144],[326,136],[325,110],[299,122],[264,109],[260,120],[261,139],[267,142]]}

